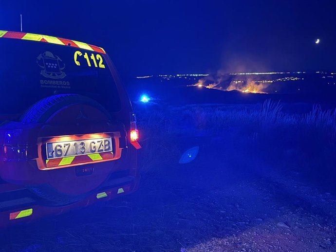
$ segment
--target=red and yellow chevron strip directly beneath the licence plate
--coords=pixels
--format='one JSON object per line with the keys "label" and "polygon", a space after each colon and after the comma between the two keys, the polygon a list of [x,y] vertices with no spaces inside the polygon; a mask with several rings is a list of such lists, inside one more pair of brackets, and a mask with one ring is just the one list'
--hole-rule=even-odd
{"label": "red and yellow chevron strip directly beneath the licence plate", "polygon": [[113,152],[111,151],[111,152],[92,153],[80,156],[71,156],[59,159],[47,159],[46,166],[49,168],[69,164],[88,163],[93,161],[108,161],[112,160],[113,157],[114,155]]}

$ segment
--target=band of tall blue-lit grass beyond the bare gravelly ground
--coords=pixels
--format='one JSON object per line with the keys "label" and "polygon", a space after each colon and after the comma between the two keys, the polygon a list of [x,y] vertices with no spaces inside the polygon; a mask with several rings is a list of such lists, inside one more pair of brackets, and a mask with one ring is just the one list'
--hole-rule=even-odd
{"label": "band of tall blue-lit grass beyond the bare gravelly ground", "polygon": [[317,105],[306,114],[284,113],[280,102],[271,100],[261,105],[155,107],[139,114],[144,136],[140,163],[146,171],[178,159],[181,136],[222,137],[232,144],[252,141],[264,153],[296,149],[309,156],[336,147],[336,109]]}

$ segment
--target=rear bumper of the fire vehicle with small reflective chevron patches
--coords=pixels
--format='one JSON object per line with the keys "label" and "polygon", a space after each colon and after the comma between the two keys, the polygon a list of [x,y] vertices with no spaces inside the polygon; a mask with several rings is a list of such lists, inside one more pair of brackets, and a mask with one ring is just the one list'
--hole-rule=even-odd
{"label": "rear bumper of the fire vehicle with small reflective chevron patches", "polygon": [[[109,180],[97,194],[67,206],[44,206],[34,198],[23,197],[0,201],[0,228],[27,223],[44,216],[59,215],[72,209],[85,207],[99,201],[107,201],[137,190],[140,177],[124,177]],[[13,187],[13,189],[15,189]]]}

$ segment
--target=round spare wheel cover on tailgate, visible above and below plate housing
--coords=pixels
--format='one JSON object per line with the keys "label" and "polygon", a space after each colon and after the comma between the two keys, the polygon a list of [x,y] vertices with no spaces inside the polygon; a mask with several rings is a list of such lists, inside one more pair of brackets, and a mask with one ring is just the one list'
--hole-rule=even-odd
{"label": "round spare wheel cover on tailgate, visible above and below plate housing", "polygon": [[[61,125],[64,128],[67,124],[78,124],[78,115],[81,114],[83,118],[80,118],[79,127],[84,127],[86,122],[106,123],[111,119],[107,110],[91,98],[78,94],[59,94],[34,104],[22,115],[20,121]],[[89,176],[78,177],[75,169],[76,166],[72,166],[41,171],[48,172],[55,180],[51,180],[48,184],[30,186],[29,189],[37,196],[46,199],[47,204],[64,205],[94,193],[109,177],[109,174],[95,174],[94,172]]]}

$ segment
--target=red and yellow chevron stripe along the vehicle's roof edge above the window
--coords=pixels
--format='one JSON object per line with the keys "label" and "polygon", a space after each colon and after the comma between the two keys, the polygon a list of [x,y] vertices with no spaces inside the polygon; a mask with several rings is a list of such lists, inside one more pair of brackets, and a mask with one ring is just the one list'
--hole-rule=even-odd
{"label": "red and yellow chevron stripe along the vehicle's roof edge above the window", "polygon": [[52,43],[52,44],[57,44],[57,45],[72,46],[72,47],[77,47],[77,48],[81,48],[81,49],[85,49],[89,51],[94,51],[94,52],[101,53],[101,54],[106,54],[105,50],[101,47],[89,45],[87,43],[83,43],[83,42],[79,42],[75,40],[60,38],[60,37],[46,36],[46,35],[33,34],[33,33],[10,32],[10,31],[2,31],[2,30],[0,30],[0,37],[25,39],[25,40]]}

